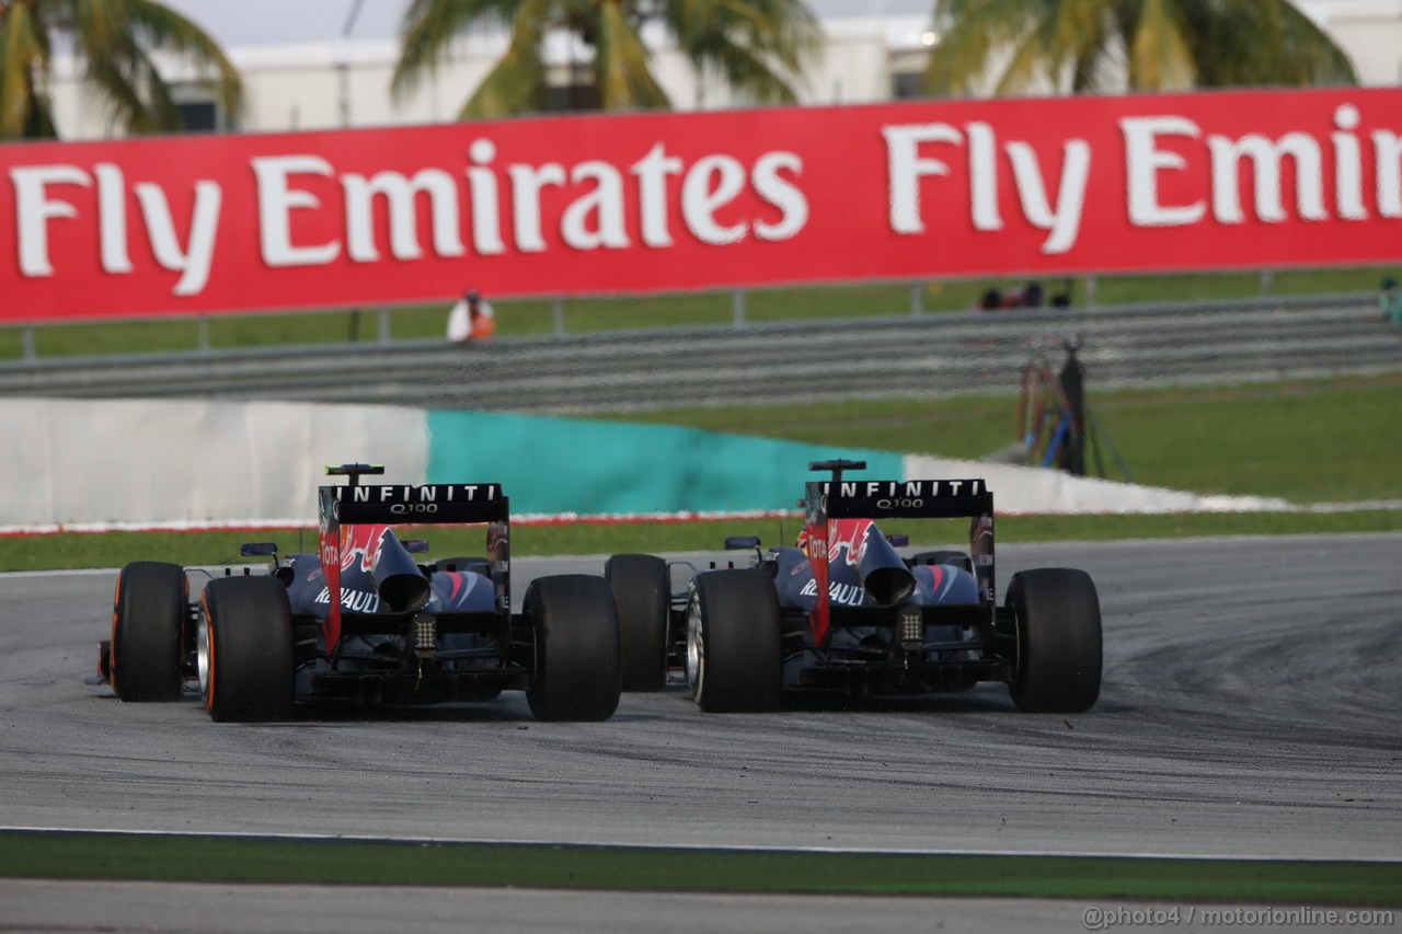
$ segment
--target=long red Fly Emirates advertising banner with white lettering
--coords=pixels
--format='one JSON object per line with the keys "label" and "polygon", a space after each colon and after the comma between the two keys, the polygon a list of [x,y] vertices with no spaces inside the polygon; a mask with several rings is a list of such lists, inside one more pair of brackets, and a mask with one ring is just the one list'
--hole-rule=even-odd
{"label": "long red Fly Emirates advertising banner with white lettering", "polygon": [[1402,90],[0,144],[0,323],[1402,258]]}

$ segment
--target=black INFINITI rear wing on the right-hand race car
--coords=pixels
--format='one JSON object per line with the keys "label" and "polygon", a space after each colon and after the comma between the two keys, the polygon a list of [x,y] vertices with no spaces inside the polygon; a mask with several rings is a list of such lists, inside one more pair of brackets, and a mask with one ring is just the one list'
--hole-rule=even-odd
{"label": "black INFINITI rear wing on the right-hand race car", "polygon": [[[817,632],[829,628],[829,519],[969,519],[969,555],[984,607],[993,611],[993,491],[983,480],[850,480],[844,470],[865,470],[865,461],[813,461],[809,470],[829,470],[833,480],[809,481],[805,530],[809,567],[817,588]],[[822,558],[822,560],[819,560]],[[991,620],[991,616],[990,616]]]}

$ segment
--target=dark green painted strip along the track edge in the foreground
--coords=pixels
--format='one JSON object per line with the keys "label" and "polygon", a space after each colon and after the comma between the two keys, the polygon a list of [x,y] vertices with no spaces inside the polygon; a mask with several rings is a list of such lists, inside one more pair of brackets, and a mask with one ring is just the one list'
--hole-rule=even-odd
{"label": "dark green painted strip along the track edge in the foreground", "polygon": [[631,892],[1402,905],[1402,862],[927,855],[0,832],[0,875]]}

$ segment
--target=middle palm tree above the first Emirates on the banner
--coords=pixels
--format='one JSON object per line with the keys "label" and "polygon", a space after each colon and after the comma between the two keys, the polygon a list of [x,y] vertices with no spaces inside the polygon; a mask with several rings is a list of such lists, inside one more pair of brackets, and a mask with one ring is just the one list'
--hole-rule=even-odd
{"label": "middle palm tree above the first Emirates on the banner", "polygon": [[589,67],[597,107],[670,107],[641,36],[648,22],[666,29],[698,74],[718,76],[756,102],[792,102],[792,83],[822,36],[803,0],[412,0],[391,88],[401,98],[411,94],[467,29],[505,27],[506,53],[460,118],[544,109],[541,46],[558,29],[593,49]]}

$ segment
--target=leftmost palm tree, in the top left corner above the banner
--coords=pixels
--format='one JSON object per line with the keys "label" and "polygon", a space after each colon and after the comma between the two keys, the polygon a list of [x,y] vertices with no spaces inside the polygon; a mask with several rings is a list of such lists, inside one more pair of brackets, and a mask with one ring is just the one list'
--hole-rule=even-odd
{"label": "leftmost palm tree, in the top left corner above the banner", "polygon": [[0,0],[0,139],[56,135],[49,102],[56,42],[72,45],[84,81],[114,122],[135,133],[182,126],[154,52],[213,73],[226,112],[243,97],[238,73],[215,41],[154,0]]}

